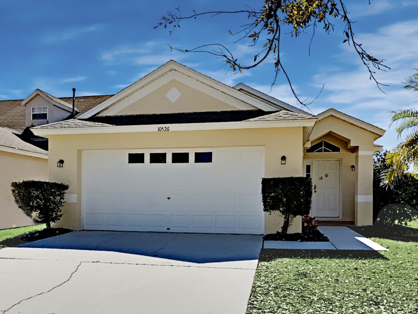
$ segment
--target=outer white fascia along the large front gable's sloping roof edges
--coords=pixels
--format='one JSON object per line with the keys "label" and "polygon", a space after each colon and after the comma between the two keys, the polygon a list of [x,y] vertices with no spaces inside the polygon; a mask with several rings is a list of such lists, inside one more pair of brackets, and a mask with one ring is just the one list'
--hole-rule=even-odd
{"label": "outer white fascia along the large front gable's sloping roof edges", "polygon": [[225,93],[227,95],[230,95],[234,98],[237,98],[239,100],[244,101],[245,103],[249,103],[252,106],[255,106],[256,108],[260,108],[265,111],[275,111],[277,108],[274,106],[270,106],[267,103],[263,103],[260,100],[257,100],[253,97],[250,97],[249,95],[245,95],[244,93],[240,92],[239,90],[236,90],[232,87],[229,87],[227,85],[222,84],[221,82],[218,82],[216,80],[213,80],[209,77],[206,77],[199,72],[196,72],[192,69],[189,69],[188,67],[185,67],[181,64],[178,64],[175,61],[169,61],[163,66],[159,67],[158,69],[155,69],[153,72],[151,72],[148,75],[145,75],[145,77],[141,78],[137,82],[133,83],[132,85],[128,86],[124,90],[121,90],[116,95],[113,95],[107,100],[104,100],[104,102],[100,103],[99,105],[95,106],[94,108],[90,109],[89,111],[86,111],[85,113],[82,113],[79,118],[85,119],[90,118],[97,113],[103,111],[104,109],[108,108],[112,104],[122,100],[123,98],[127,97],[131,93],[134,93],[136,90],[141,88],[142,86],[150,84],[153,80],[158,79],[161,75],[163,75],[166,72],[170,72],[172,70],[175,70],[183,75],[189,76],[191,78],[194,78],[195,80],[198,80],[205,85],[208,85],[209,87],[215,88],[219,90],[222,93]]}

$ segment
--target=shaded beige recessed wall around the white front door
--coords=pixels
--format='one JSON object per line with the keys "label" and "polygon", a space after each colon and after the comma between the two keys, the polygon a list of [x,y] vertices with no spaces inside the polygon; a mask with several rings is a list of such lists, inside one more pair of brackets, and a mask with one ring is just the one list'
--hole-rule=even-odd
{"label": "shaded beige recessed wall around the white front door", "polygon": [[[355,209],[355,187],[357,173],[351,170],[351,165],[356,163],[355,149],[348,149],[347,142],[336,138],[332,135],[325,135],[312,142],[316,144],[319,141],[325,140],[331,144],[334,144],[341,148],[339,153],[306,153],[304,149],[305,165],[311,164],[313,160],[340,160],[341,177],[340,177],[340,189],[342,197],[342,218],[334,219],[341,221],[354,221],[354,209]],[[311,164],[312,165],[312,164]],[[311,171],[312,171],[311,166]]]}

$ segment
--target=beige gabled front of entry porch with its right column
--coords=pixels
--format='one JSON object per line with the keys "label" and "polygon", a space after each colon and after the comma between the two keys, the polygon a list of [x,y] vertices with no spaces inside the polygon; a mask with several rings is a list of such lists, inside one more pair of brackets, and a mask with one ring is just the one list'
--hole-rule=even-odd
{"label": "beige gabled front of entry porch with its right column", "polygon": [[[353,171],[353,174],[349,174],[347,169],[344,168],[348,166],[349,162],[343,160],[343,176],[345,172],[343,180],[352,180],[354,175],[354,223],[359,226],[371,225],[373,223],[374,141],[380,136],[334,116],[329,116],[316,122],[310,136],[311,143],[318,142],[321,137],[327,134],[334,135],[347,142],[348,149],[354,152],[354,159],[347,154],[346,156],[350,161],[354,160],[352,164],[356,166],[356,170]],[[324,153],[326,155],[324,157],[329,158],[328,156],[331,156],[331,154],[335,153]],[[344,153],[340,154],[344,156]],[[305,153],[305,158],[306,155]],[[347,188],[346,197],[344,198],[343,195],[343,201],[345,200],[344,204],[347,210],[347,214],[344,217],[352,218],[352,205],[347,201],[347,193],[352,194],[353,188],[348,183],[343,184],[342,188]]]}

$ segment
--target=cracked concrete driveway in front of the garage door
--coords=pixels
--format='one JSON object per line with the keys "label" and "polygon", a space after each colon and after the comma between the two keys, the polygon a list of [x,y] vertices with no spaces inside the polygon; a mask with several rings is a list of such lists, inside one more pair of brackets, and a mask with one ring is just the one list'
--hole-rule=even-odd
{"label": "cracked concrete driveway in front of the garage door", "polygon": [[0,250],[3,313],[245,313],[261,236],[80,231]]}

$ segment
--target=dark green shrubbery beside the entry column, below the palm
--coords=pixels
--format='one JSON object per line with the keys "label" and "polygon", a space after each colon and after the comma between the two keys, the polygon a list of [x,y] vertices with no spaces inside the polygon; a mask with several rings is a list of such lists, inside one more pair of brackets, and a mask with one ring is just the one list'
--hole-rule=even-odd
{"label": "dark green shrubbery beside the entry column, below the palm", "polygon": [[382,186],[389,169],[388,151],[377,152],[373,160],[373,220],[383,226],[395,222],[407,225],[418,218],[418,179],[403,175],[393,187]]}

